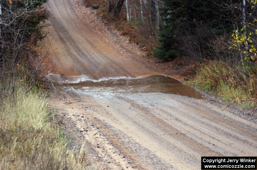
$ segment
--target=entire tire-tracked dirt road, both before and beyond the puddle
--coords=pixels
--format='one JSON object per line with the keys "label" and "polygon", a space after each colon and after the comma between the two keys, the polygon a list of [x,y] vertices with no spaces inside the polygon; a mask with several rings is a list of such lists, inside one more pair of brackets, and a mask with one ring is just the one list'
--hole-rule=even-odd
{"label": "entire tire-tracked dirt road, both before and beyond the puddle", "polygon": [[84,10],[80,5],[80,0],[47,2],[53,25],[45,42],[51,45],[55,72],[49,78],[56,88],[49,100],[63,128],[85,139],[85,153],[96,169],[200,169],[201,156],[256,156],[256,113],[177,94],[73,87],[158,74],[106,42],[87,22],[92,11],[86,9],[84,18],[78,14]]}

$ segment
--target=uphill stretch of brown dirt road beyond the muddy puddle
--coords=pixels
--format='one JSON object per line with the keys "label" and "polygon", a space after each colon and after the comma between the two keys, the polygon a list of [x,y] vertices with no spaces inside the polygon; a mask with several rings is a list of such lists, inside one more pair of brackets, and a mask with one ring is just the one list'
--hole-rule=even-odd
{"label": "uphill stretch of brown dirt road beyond the muddy puddle", "polygon": [[78,18],[70,1],[50,0],[52,13],[48,43],[57,70],[65,75],[131,76],[152,74],[129,56],[115,51],[113,45],[102,41],[84,20]]}

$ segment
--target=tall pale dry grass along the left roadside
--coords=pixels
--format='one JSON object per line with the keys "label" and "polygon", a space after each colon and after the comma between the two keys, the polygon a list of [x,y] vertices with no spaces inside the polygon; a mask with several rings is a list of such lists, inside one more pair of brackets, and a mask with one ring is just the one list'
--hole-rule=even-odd
{"label": "tall pale dry grass along the left roadside", "polygon": [[0,169],[90,169],[66,147],[42,94],[18,90],[0,105]]}

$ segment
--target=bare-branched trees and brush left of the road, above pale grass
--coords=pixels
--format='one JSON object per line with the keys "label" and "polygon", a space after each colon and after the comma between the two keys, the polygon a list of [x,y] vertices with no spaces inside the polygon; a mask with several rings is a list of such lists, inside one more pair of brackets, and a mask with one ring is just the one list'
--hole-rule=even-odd
{"label": "bare-branched trees and brush left of the road, above pale grass", "polygon": [[30,47],[45,36],[42,32],[42,28],[47,26],[45,20],[48,17],[48,12],[42,6],[45,2],[0,0],[0,95],[8,93],[10,89],[14,92],[18,74],[21,74],[17,72],[18,62],[36,56]]}

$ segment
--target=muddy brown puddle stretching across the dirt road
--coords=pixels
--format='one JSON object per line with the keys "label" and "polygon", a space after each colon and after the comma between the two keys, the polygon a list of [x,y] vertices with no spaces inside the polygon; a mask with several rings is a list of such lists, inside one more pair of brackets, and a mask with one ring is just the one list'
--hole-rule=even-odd
{"label": "muddy brown puddle stretching across the dirt road", "polygon": [[[57,81],[57,76],[51,76]],[[90,80],[83,76],[72,77],[64,81],[64,85],[81,92],[121,92],[121,93],[168,93],[203,99],[200,92],[176,79],[163,75],[151,75],[139,78],[116,77],[109,79]]]}

